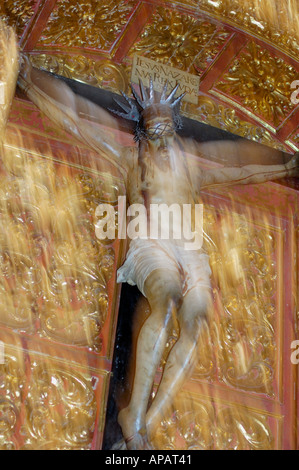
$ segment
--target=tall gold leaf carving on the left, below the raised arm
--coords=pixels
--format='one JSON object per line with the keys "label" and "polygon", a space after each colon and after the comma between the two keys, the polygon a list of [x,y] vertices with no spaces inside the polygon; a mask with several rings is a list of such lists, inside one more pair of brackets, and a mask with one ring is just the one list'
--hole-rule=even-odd
{"label": "tall gold leaf carving on the left, below the raised arm", "polygon": [[95,211],[112,185],[5,147],[0,191],[0,323],[101,349],[114,249],[95,236]]}

